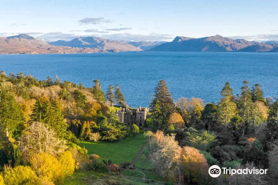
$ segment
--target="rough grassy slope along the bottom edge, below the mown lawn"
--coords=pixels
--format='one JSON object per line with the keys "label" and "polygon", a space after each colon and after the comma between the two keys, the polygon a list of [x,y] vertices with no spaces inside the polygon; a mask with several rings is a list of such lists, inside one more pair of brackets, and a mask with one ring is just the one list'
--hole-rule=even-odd
{"label": "rough grassy slope along the bottom edge, below the mown lawn", "polygon": [[[65,179],[62,185],[147,185],[142,179],[125,175],[107,175],[94,171],[74,171],[74,174]],[[160,183],[154,183],[159,185]]]}

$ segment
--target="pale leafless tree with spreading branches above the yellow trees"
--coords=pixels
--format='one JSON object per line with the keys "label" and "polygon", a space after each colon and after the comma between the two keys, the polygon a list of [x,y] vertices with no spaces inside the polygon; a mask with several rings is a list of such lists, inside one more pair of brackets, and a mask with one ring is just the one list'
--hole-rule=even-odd
{"label": "pale leafless tree with spreading branches above the yellow trees", "polygon": [[66,149],[65,141],[56,138],[54,130],[41,122],[33,122],[20,138],[19,148],[23,160],[28,161],[38,153],[57,155]]}

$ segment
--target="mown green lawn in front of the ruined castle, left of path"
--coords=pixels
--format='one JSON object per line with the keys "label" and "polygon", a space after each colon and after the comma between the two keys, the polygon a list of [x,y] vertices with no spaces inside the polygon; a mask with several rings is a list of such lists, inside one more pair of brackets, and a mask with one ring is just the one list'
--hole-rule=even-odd
{"label": "mown green lawn in front of the ruined castle, left of path", "polygon": [[81,142],[80,146],[85,146],[88,154],[97,154],[106,161],[111,159],[113,163],[120,164],[125,161],[132,162],[145,140],[141,132],[136,138],[130,135],[119,142]]}

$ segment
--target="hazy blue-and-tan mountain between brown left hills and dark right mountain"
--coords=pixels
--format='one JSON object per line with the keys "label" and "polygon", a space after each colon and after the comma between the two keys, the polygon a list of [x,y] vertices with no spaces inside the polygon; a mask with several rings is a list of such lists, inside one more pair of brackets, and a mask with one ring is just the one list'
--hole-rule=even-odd
{"label": "hazy blue-and-tan mountain between brown left hills and dark right mountain", "polygon": [[117,51],[142,51],[139,47],[135,47],[124,41],[102,39],[99,37],[80,37],[70,41],[57,40],[54,42],[48,42],[50,45],[55,46],[70,46],[70,47],[89,47],[99,50],[117,50]]}

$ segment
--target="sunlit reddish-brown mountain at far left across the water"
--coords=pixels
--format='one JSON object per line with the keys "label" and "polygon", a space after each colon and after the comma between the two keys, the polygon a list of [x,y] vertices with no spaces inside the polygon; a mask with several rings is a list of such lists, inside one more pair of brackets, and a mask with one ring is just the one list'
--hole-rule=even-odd
{"label": "sunlit reddish-brown mountain at far left across the water", "polygon": [[44,54],[44,53],[93,53],[106,52],[92,48],[52,46],[26,34],[0,37],[0,54]]}

